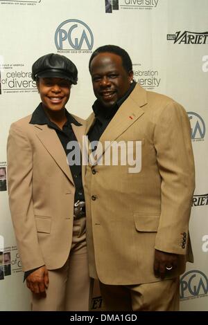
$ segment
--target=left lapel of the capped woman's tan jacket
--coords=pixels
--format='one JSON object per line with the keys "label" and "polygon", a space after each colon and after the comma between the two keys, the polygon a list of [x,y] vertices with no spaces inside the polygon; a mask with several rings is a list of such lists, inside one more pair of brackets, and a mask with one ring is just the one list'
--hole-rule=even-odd
{"label": "left lapel of the capped woman's tan jacket", "polygon": [[73,183],[71,171],[69,165],[67,165],[67,156],[55,130],[50,129],[47,125],[36,124],[34,126],[42,130],[37,133],[37,138],[40,139],[42,145],[44,145],[64,174],[71,180],[71,183]]}

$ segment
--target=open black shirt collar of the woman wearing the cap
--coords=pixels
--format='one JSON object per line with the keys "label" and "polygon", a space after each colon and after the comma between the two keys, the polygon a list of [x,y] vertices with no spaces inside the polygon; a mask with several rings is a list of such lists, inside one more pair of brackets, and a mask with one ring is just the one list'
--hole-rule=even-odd
{"label": "open black shirt collar of the woman wearing the cap", "polygon": [[[71,123],[75,124],[77,127],[80,127],[82,125],[75,118],[73,118],[73,116],[67,111],[67,109],[65,109],[65,114],[67,117],[67,122],[64,125],[70,125]],[[42,102],[37,106],[37,109],[35,109],[35,111],[33,112],[29,123],[39,125],[47,124],[53,129],[59,129],[59,127],[55,123],[49,120],[42,106]]]}

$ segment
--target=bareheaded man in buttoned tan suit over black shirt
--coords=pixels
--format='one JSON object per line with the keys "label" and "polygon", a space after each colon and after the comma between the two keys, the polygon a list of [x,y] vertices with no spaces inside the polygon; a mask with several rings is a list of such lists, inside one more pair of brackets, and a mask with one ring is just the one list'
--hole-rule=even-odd
{"label": "bareheaded man in buttoned tan suit over black shirt", "polygon": [[[99,140],[85,180],[89,274],[99,279],[107,310],[178,310],[179,275],[193,261],[189,118],[180,104],[133,80],[119,46],[95,50],[89,72],[97,100],[88,137]],[[117,165],[105,163],[115,143],[126,144],[127,156],[134,150],[137,170],[122,155]]]}

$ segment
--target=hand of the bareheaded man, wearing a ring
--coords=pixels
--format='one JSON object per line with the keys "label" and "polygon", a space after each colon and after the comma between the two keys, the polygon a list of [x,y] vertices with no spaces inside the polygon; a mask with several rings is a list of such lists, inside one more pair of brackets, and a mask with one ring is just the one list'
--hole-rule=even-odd
{"label": "hand of the bareheaded man, wearing a ring", "polygon": [[[167,252],[161,252],[155,250],[154,272],[155,277],[161,277],[164,279],[165,275],[171,270],[177,268],[178,254],[172,254]],[[167,270],[170,268],[170,270]]]}

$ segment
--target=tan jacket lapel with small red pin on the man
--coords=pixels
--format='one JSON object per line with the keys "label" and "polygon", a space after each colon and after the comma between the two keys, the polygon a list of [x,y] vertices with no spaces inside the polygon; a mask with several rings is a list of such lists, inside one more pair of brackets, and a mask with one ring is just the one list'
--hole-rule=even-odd
{"label": "tan jacket lapel with small red pin on the man", "polygon": [[[110,147],[111,143],[140,118],[144,113],[143,106],[145,104],[147,104],[146,91],[137,84],[103,132],[99,140],[101,142],[100,146],[96,150],[97,161],[104,154],[105,150]],[[107,145],[105,141],[108,142]]]}

